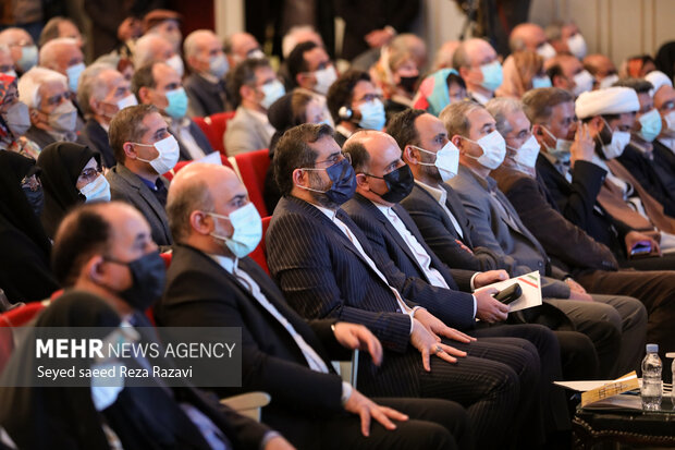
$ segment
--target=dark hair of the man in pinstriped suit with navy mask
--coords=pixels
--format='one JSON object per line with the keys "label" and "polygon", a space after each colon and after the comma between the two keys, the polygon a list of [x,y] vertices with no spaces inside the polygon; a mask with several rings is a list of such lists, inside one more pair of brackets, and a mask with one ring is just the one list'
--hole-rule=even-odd
{"label": "dark hair of the man in pinstriped suit with navy mask", "polygon": [[311,123],[294,126],[281,136],[272,160],[274,179],[281,195],[290,195],[293,191],[295,169],[314,167],[317,153],[308,144],[314,144],[323,136],[333,137],[333,129],[327,124]]}

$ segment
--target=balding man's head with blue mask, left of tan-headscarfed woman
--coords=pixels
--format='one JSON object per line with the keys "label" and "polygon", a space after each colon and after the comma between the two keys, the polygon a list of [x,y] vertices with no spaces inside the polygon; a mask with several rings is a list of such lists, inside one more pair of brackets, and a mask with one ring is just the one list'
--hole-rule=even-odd
{"label": "balding man's head with blue mask, left of tan-headscarfed woman", "polygon": [[453,54],[453,66],[466,82],[469,98],[481,105],[494,97],[502,85],[502,64],[496,51],[483,39],[463,41]]}

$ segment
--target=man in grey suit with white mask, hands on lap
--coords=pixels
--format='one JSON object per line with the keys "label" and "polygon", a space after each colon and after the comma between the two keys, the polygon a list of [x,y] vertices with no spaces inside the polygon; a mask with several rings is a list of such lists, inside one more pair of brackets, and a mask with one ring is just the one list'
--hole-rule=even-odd
{"label": "man in grey suit with white mask, hands on lap", "polygon": [[[628,331],[635,324],[626,318],[642,309],[640,303],[623,296],[591,296],[569,273],[552,265],[543,246],[490,177],[490,172],[504,160],[506,144],[488,110],[476,102],[459,102],[445,108],[440,119],[447,135],[452,136],[451,142],[459,149],[459,170],[447,183],[462,198],[466,214],[478,231],[478,243],[513,257],[520,266],[539,270],[542,276],[563,280],[569,287],[569,299],[549,299],[548,302],[563,311],[579,331],[592,332],[588,321],[599,319],[611,321],[618,336]],[[634,343],[625,342],[627,348],[621,352],[635,353],[631,345]],[[617,374],[617,355],[600,350],[598,355],[601,376],[621,375]]]}

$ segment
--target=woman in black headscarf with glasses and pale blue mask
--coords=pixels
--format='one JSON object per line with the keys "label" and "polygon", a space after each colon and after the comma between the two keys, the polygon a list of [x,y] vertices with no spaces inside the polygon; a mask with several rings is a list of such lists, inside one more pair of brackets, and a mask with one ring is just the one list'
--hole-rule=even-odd
{"label": "woman in black headscarf with glasses and pale blue mask", "polygon": [[85,202],[110,202],[110,185],[101,173],[101,156],[87,146],[58,142],[37,158],[45,190],[42,227],[53,239],[61,219],[73,206]]}

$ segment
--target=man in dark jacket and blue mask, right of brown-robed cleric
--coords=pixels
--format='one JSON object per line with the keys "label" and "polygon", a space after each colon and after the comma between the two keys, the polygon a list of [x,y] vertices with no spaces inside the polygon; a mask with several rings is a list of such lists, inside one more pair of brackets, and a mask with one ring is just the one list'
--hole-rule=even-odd
{"label": "man in dark jacket and blue mask, right of brown-robed cleric", "polygon": [[630,144],[616,158],[640,185],[660,204],[667,216],[675,217],[675,192],[668,191],[656,173],[653,156],[653,142],[661,134],[662,121],[654,100],[650,95],[653,88],[647,80],[624,78],[614,86],[629,87],[638,95],[640,109],[630,130]]}

